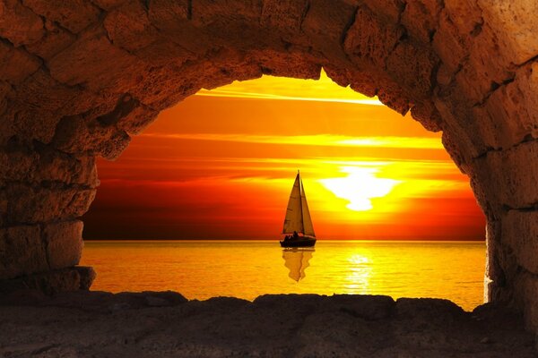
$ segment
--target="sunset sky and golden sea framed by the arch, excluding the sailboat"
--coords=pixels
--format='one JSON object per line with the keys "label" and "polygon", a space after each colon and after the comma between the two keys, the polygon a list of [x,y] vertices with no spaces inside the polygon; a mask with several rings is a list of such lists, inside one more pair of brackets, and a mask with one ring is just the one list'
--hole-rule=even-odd
{"label": "sunset sky and golden sea framed by the arch, excluding the sailboat", "polygon": [[[482,304],[481,244],[331,242],[483,240],[482,212],[440,134],[380,105],[322,75],[318,81],[235,83],[170,108],[117,162],[98,162],[97,207],[82,217],[82,263],[99,273],[93,289],[249,300],[273,293],[369,293],[449,298],[466,310]],[[319,250],[306,280],[290,286],[276,241],[297,168]],[[249,242],[88,242],[121,238]],[[449,256],[458,245],[465,260]],[[450,265],[436,264],[443,249]],[[293,252],[283,255],[287,266],[299,268]],[[421,264],[413,267],[413,261]],[[127,262],[127,270],[117,268]],[[436,288],[440,280],[444,288]]]}

